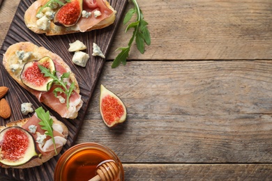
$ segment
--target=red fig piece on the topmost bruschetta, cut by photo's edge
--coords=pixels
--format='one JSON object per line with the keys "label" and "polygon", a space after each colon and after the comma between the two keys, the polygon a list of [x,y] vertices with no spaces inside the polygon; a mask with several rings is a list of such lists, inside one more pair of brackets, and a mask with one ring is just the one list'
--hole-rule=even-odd
{"label": "red fig piece on the topmost bruschetta, cut by photo's edge", "polygon": [[82,16],[83,0],[70,0],[56,11],[54,15],[54,24],[59,26],[73,26],[77,24]]}

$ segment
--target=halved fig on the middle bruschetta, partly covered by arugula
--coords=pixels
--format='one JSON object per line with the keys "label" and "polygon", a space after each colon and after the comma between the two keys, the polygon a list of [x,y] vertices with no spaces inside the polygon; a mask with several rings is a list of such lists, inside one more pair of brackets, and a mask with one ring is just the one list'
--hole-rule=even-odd
{"label": "halved fig on the middle bruschetta, partly covered by arugula", "polygon": [[30,61],[24,65],[21,72],[22,83],[29,88],[37,91],[48,91],[52,86],[53,79],[51,77],[45,77],[45,75],[40,71],[38,65],[43,65],[43,67],[53,72],[55,70],[54,62],[50,57],[44,57],[40,61]]}

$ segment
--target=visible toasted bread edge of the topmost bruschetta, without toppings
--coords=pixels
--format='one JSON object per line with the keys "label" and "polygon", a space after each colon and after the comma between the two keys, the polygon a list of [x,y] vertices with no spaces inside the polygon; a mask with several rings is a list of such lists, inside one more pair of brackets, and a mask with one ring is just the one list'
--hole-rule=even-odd
{"label": "visible toasted bread edge of the topmost bruschetta, without toppings", "polygon": [[[80,32],[80,30],[77,29],[76,26],[71,26],[71,27],[56,26],[56,24],[54,24],[53,21],[50,22],[49,29],[47,29],[46,31],[43,29],[39,29],[37,26],[38,18],[36,17],[36,15],[40,7],[45,5],[47,1],[49,0],[37,0],[34,3],[32,3],[31,6],[29,6],[29,8],[26,10],[26,12],[24,13],[24,23],[26,24],[28,29],[38,34],[45,33],[46,36],[56,36],[56,35],[64,35],[68,33]],[[116,11],[114,10],[114,8],[112,8],[112,6],[109,5],[107,1],[104,1],[104,2],[105,2],[105,5],[109,9],[111,9],[114,13],[112,13],[112,15],[110,15],[106,19],[103,19],[103,21],[99,22],[98,24],[91,26],[86,31],[91,31],[95,29],[103,29],[114,22],[116,18],[116,15],[115,15]]]}

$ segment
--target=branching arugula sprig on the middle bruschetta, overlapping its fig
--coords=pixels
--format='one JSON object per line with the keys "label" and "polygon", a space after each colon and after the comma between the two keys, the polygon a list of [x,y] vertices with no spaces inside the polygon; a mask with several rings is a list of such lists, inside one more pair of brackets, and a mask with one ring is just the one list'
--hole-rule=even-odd
{"label": "branching arugula sprig on the middle bruschetta, overlapping its fig", "polygon": [[[61,87],[57,87],[54,89],[53,93],[54,96],[57,97],[57,93],[65,93],[66,94],[66,107],[69,107],[69,99],[70,95],[73,93],[73,90],[75,89],[75,82],[73,81],[72,84],[70,84],[70,87],[67,88],[67,81],[63,81],[65,78],[70,77],[70,72],[65,72],[61,75],[60,79],[56,76],[56,70],[53,72],[50,72],[49,69],[45,68],[43,65],[38,65],[38,68],[40,68],[40,71],[45,75],[45,77],[50,77],[53,80],[47,84],[47,86],[50,86],[52,83],[59,85]],[[49,89],[47,87],[47,89]]]}

